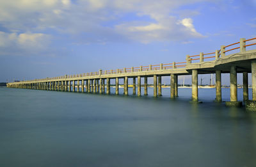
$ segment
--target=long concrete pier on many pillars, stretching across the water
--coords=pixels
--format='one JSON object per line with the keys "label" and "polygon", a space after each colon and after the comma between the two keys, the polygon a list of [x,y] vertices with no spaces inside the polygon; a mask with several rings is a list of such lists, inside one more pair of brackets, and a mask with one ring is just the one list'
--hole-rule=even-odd
{"label": "long concrete pier on many pillars, stretching across the water", "polygon": [[[115,80],[115,94],[119,93],[119,79],[124,79],[124,94],[128,95],[128,80],[132,79],[132,94],[136,95],[136,80],[138,92],[141,96],[141,78],[144,78],[144,95],[147,95],[148,77],[154,78],[154,97],[161,96],[161,77],[170,76],[170,98],[179,96],[177,77],[192,75],[191,101],[198,102],[198,74],[216,74],[216,102],[221,102],[221,74],[230,74],[230,101],[227,106],[242,106],[237,101],[237,73],[243,73],[243,100],[250,111],[256,111],[256,38],[241,38],[239,42],[221,45],[214,52],[200,52],[197,55],[187,55],[184,62],[172,62],[159,65],[146,65],[116,70],[99,70],[72,76],[51,77],[8,83],[9,88],[24,88],[52,91],[77,91],[86,93],[110,94],[110,81]],[[246,44],[248,43],[248,44]],[[237,52],[228,54],[230,51]],[[252,99],[248,99],[248,73],[252,73]],[[106,92],[105,92],[106,88]]]}

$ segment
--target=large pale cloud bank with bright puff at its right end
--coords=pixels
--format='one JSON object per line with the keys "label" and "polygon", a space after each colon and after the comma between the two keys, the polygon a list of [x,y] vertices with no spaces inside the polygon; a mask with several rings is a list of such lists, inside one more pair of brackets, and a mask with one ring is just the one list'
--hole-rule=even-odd
{"label": "large pale cloud bank with bright puff at its right end", "polygon": [[[0,25],[15,33],[53,29],[79,39],[83,36],[86,43],[115,41],[117,36],[143,43],[189,40],[203,35],[196,31],[190,17],[179,20],[172,12],[182,5],[204,1],[211,0],[1,1]],[[123,17],[129,13],[134,13],[138,19],[124,20]],[[140,20],[144,16],[149,19]]]}

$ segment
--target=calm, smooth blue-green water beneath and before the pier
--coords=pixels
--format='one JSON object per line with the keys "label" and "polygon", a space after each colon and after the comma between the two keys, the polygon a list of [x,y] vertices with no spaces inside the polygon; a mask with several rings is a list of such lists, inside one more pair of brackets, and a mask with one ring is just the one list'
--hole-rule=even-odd
{"label": "calm, smooth blue-green water beneath and before the pier", "polygon": [[214,89],[199,90],[202,104],[188,102],[190,89],[176,100],[148,91],[0,88],[0,166],[256,166],[256,113],[212,102]]}

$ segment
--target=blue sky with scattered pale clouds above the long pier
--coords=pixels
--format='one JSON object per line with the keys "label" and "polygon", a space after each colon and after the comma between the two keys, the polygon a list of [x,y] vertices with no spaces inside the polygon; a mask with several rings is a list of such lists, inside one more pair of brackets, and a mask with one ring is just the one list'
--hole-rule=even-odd
{"label": "blue sky with scattered pale clouds above the long pier", "polygon": [[256,37],[255,10],[256,0],[0,0],[0,82],[182,62]]}

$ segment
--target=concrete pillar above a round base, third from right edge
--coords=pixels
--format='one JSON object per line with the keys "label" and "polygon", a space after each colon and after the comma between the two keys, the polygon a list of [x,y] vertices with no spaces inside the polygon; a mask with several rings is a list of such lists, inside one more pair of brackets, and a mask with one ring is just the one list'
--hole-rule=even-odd
{"label": "concrete pillar above a round base, third from right edge", "polygon": [[230,69],[230,102],[237,101],[237,74],[236,66]]}

